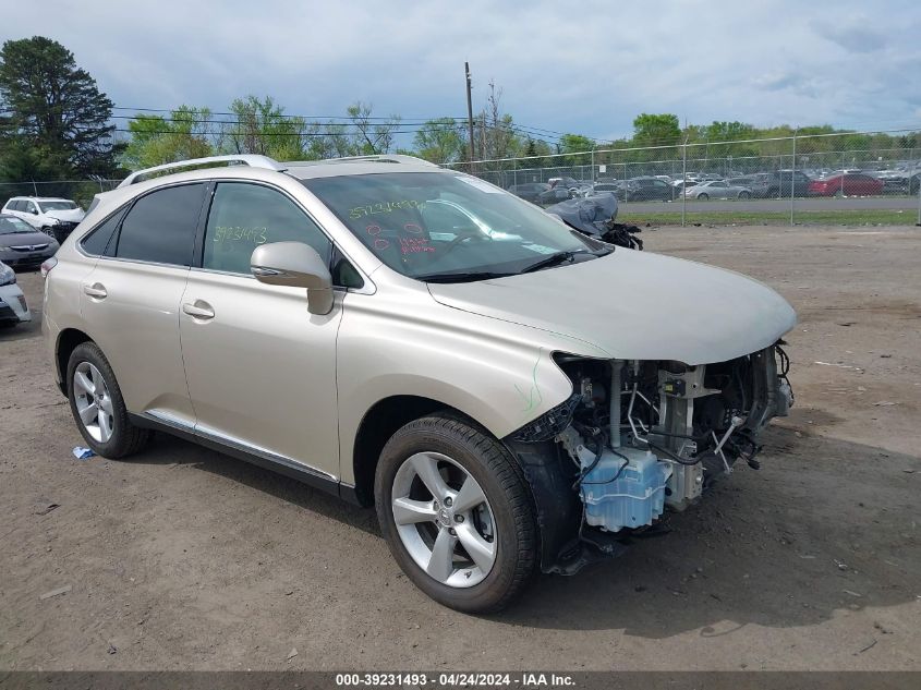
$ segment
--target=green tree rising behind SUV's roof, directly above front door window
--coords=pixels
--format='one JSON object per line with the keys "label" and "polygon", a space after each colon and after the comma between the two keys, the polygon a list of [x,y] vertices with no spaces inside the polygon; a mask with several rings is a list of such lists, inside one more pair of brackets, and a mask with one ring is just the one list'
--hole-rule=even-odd
{"label": "green tree rising behind SUV's roof, directly above front door window", "polygon": [[262,154],[277,160],[304,158],[302,135],[306,122],[284,114],[270,96],[237,98],[230,105],[234,119],[223,129],[222,147],[233,154]]}

